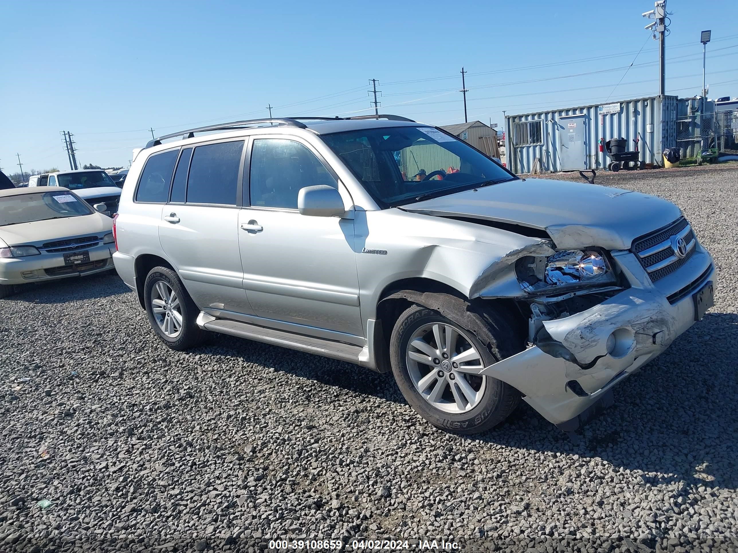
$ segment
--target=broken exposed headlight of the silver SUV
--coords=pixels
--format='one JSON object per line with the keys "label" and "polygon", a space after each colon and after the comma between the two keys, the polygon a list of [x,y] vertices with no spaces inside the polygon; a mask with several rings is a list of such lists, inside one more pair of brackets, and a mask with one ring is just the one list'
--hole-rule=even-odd
{"label": "broken exposed headlight of the silver SUV", "polygon": [[603,252],[556,251],[549,257],[523,257],[515,265],[520,287],[528,293],[557,293],[589,285],[612,285],[615,274]]}

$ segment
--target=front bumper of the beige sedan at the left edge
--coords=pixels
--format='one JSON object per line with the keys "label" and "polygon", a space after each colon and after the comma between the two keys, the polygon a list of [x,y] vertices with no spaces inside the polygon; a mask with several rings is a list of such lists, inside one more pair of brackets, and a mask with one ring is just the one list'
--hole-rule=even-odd
{"label": "front bumper of the beige sedan at the left edge", "polygon": [[81,265],[64,265],[63,253],[2,258],[0,259],[0,284],[46,282],[108,271],[113,268],[113,249],[113,244],[100,244],[87,248],[90,260]]}

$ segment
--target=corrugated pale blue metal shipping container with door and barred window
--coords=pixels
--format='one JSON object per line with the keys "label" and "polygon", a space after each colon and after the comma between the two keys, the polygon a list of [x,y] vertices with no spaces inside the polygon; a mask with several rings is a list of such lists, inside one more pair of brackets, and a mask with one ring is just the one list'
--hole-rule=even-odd
{"label": "corrugated pale blue metal shipping container with door and barred window", "polygon": [[610,163],[599,151],[600,139],[627,140],[645,163],[663,164],[663,149],[676,145],[677,97],[654,96],[607,104],[584,105],[508,115],[505,147],[508,169],[514,173],[542,173],[601,169]]}

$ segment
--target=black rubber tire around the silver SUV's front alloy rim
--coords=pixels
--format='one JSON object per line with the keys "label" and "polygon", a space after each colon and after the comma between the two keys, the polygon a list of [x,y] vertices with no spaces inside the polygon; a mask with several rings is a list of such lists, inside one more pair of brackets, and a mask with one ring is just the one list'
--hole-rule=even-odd
{"label": "black rubber tire around the silver SUV's front alloy rim", "polygon": [[[415,389],[413,380],[410,379],[410,372],[407,369],[404,352],[407,351],[407,344],[415,330],[423,324],[430,322],[445,322],[463,330],[463,333],[472,341],[472,345],[477,349],[477,352],[480,352],[485,366],[489,366],[497,361],[479,338],[471,331],[463,328],[461,324],[427,307],[421,307],[419,305],[410,307],[398,319],[393,329],[392,337],[390,338],[392,371],[407,403],[410,403],[410,406],[415,408],[425,420],[438,426],[438,428],[444,428],[449,431],[473,434],[477,431],[491,428],[501,422],[505,417],[500,418],[496,414],[500,411],[499,408],[503,404],[503,394],[506,392],[506,389],[505,384],[496,378],[487,377],[486,389],[479,405],[463,414],[446,413],[430,406],[417,389]],[[500,420],[497,420],[498,418]]]}

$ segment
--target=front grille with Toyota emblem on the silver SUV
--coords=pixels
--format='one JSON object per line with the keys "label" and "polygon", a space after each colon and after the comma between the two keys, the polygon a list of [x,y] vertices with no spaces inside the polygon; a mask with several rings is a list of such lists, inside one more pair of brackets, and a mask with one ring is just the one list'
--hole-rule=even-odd
{"label": "front grille with Toyota emblem on the silver SUV", "polygon": [[[683,240],[686,251],[678,253],[677,240]],[[652,282],[672,274],[694,254],[697,239],[692,227],[683,217],[665,229],[646,234],[633,241],[631,250],[646,269]]]}

